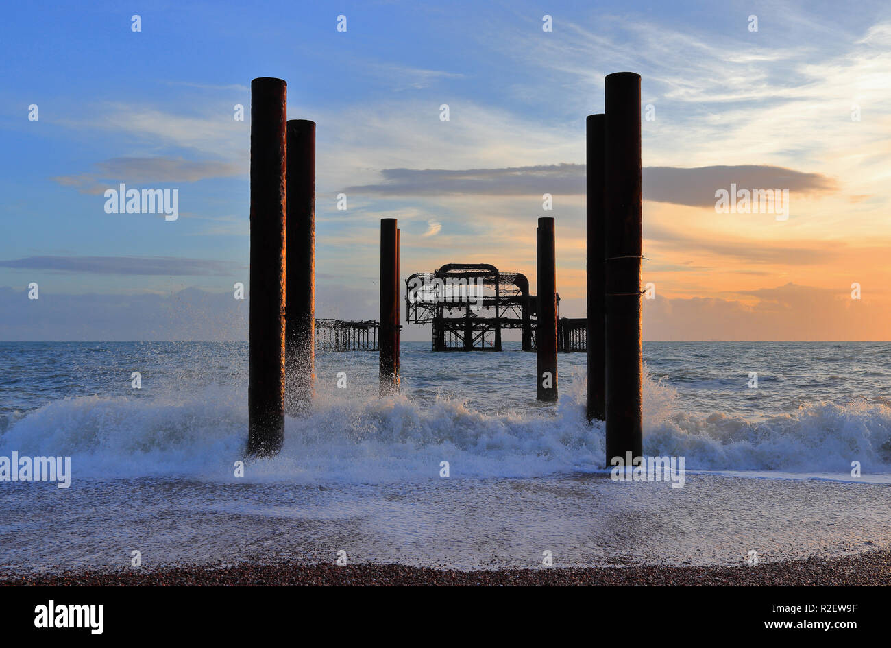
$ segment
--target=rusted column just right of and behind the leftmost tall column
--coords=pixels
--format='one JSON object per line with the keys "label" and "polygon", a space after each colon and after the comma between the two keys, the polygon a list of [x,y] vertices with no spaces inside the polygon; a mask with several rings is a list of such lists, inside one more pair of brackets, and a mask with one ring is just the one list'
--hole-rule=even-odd
{"label": "rusted column just right of and behind the leftmost tall column", "polygon": [[285,398],[296,415],[313,398],[315,373],[315,122],[288,121]]}

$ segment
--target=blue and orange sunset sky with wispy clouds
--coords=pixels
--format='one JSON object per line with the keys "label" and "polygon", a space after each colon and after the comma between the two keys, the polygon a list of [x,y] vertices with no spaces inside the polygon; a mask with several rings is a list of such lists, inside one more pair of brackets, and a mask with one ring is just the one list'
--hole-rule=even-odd
{"label": "blue and orange sunset sky with wispy clouds", "polygon": [[[257,77],[317,125],[316,316],[376,318],[382,217],[403,278],[491,263],[535,291],[542,216],[584,316],[584,119],[615,71],[642,76],[644,340],[888,340],[891,4],[854,6],[8,4],[0,340],[247,339]],[[106,213],[120,183],[179,217]],[[715,209],[731,184],[789,217]]]}

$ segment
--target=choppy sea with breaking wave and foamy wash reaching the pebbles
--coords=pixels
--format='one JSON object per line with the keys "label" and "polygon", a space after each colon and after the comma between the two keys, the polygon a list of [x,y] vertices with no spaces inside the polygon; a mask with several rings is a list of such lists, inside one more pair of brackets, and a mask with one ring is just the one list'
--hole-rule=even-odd
{"label": "choppy sea with breaking wave and foamy wash reaching the pebbles", "polygon": [[400,353],[381,398],[375,352],[317,352],[313,405],[279,455],[252,459],[247,344],[0,343],[0,457],[70,457],[69,488],[0,481],[0,569],[891,548],[891,342],[645,342],[644,455],[683,457],[681,488],[611,478],[584,353],[560,354],[556,404],[536,402],[519,342]]}

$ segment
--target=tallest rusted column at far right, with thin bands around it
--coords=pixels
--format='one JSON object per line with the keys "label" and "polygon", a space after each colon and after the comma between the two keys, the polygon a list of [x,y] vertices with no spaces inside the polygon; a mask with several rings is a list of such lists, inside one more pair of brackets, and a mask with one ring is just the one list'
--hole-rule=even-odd
{"label": "tallest rusted column at far right, with thin bands around it", "polygon": [[643,452],[641,77],[606,78],[606,463]]}

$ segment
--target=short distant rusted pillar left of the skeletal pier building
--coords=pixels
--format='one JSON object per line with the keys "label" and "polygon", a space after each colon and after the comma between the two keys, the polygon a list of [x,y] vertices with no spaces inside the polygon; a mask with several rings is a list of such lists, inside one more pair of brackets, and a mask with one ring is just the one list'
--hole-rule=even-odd
{"label": "short distant rusted pillar left of the skeletal pier building", "polygon": [[380,394],[399,389],[399,230],[380,219]]}

